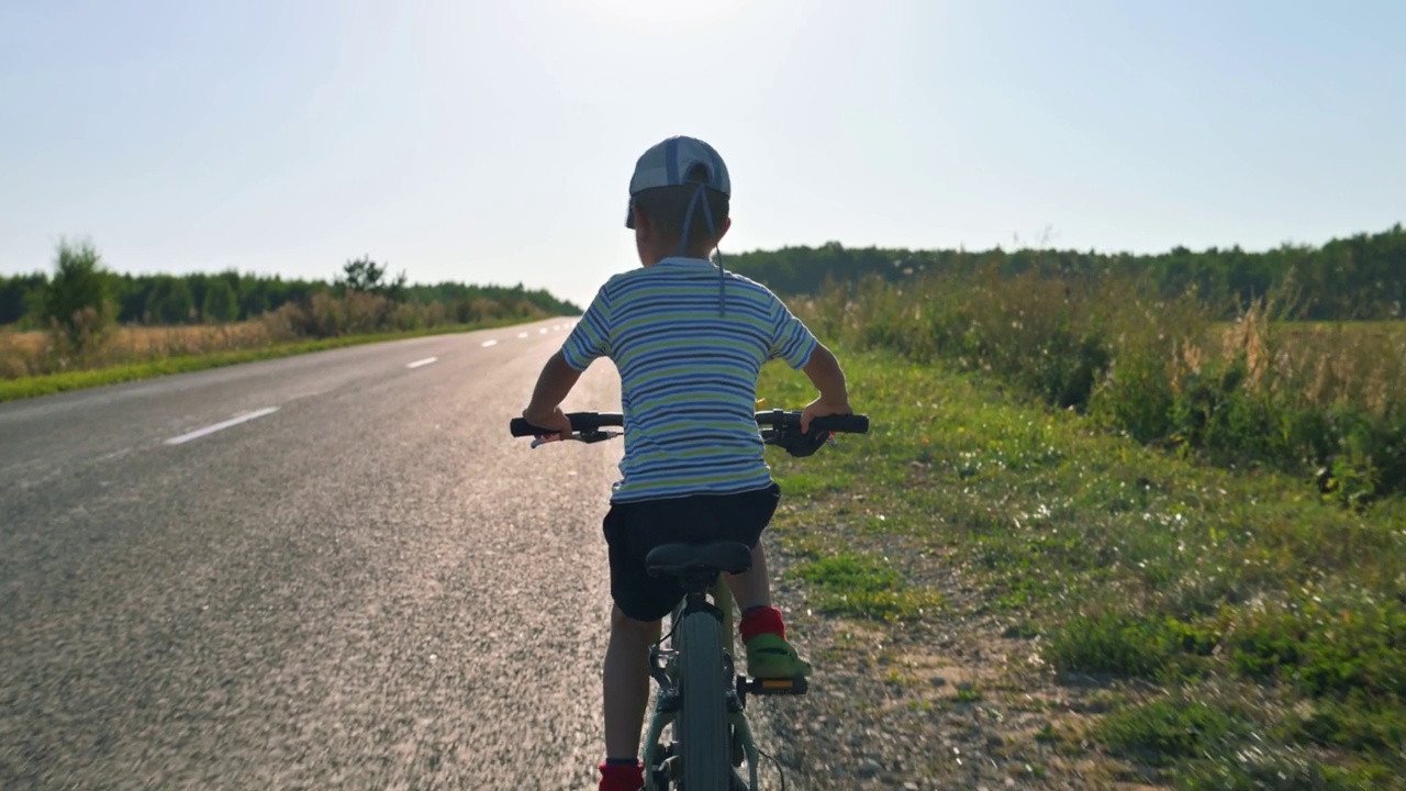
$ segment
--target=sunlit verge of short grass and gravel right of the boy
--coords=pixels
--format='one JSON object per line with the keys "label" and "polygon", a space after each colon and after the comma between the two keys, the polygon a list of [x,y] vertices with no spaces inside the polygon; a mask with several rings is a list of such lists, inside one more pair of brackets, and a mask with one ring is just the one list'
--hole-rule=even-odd
{"label": "sunlit verge of short grass and gravel right of the boy", "polygon": [[[839,352],[875,431],[773,456],[793,631],[830,683],[785,715],[799,749],[842,722],[901,733],[877,763],[929,783],[1400,787],[1406,502],[1358,512],[987,373]],[[811,396],[775,369],[761,396]]]}

